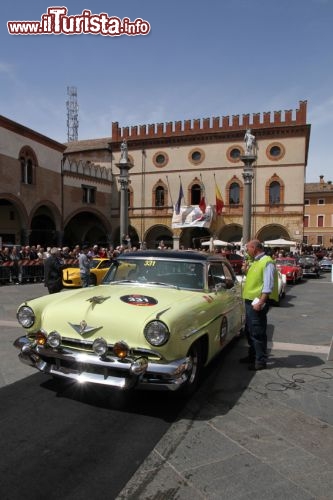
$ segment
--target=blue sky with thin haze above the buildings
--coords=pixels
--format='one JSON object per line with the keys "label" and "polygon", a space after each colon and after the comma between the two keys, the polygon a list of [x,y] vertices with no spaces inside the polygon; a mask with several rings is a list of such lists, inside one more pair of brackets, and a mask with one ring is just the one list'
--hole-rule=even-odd
{"label": "blue sky with thin haze above the buildings", "polygon": [[[8,21],[106,13],[148,34],[11,35]],[[295,110],[308,102],[306,182],[333,180],[333,0],[11,0],[0,18],[0,114],[67,142],[67,88],[78,138],[120,127]]]}

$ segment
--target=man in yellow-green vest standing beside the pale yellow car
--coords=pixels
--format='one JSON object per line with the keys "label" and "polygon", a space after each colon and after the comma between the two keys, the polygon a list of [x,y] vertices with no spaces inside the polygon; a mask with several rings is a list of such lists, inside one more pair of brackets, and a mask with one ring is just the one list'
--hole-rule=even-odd
{"label": "man in yellow-green vest standing beside the pale yellow car", "polygon": [[249,370],[264,370],[267,363],[267,313],[269,299],[278,300],[278,275],[274,260],[265,254],[259,240],[246,244],[250,260],[244,269],[243,287],[249,353],[241,363],[248,363]]}

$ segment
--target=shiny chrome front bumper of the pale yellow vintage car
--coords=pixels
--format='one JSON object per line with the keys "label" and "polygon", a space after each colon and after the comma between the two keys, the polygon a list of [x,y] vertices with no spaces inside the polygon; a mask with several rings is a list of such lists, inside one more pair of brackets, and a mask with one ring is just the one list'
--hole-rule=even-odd
{"label": "shiny chrome front bumper of the pale yellow vintage car", "polygon": [[142,358],[139,356],[119,359],[68,348],[52,349],[38,346],[26,336],[16,339],[14,346],[20,351],[19,359],[22,363],[43,373],[81,384],[93,383],[118,389],[135,387],[176,391],[187,381],[192,363],[189,357],[172,362],[148,360],[148,363],[142,363],[140,369]]}

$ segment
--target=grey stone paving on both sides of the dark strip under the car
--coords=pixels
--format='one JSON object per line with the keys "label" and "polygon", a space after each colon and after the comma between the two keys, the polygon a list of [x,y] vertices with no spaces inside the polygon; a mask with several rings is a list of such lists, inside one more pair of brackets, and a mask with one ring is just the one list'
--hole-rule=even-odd
{"label": "grey stone paving on both sides of the dark strip under the car", "polygon": [[[117,500],[333,498],[330,275],[288,287],[269,312],[268,369],[239,364],[244,339],[207,370],[177,421]],[[0,386],[35,373],[17,360],[15,311],[42,284],[0,288]]]}

